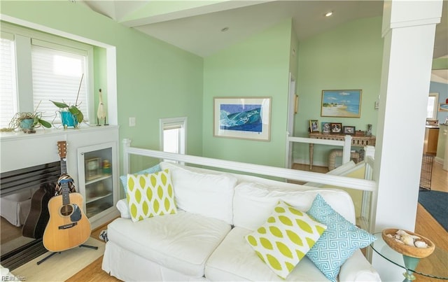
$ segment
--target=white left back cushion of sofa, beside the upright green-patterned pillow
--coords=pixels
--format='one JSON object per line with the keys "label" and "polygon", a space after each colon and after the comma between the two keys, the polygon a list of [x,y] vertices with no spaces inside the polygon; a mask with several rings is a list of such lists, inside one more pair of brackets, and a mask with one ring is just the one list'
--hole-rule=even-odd
{"label": "white left back cushion of sofa, beside the upright green-patterned pillow", "polygon": [[180,209],[232,224],[235,176],[172,162],[162,162],[160,167],[172,173],[176,205]]}

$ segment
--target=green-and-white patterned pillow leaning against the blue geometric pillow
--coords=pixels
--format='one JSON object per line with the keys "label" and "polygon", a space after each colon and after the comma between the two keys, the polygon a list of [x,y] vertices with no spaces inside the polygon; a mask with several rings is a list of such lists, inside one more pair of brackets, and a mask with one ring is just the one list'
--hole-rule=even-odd
{"label": "green-and-white patterned pillow leaning against the blue geometric pillow", "polygon": [[275,274],[286,279],[326,228],[280,201],[266,223],[244,238]]}

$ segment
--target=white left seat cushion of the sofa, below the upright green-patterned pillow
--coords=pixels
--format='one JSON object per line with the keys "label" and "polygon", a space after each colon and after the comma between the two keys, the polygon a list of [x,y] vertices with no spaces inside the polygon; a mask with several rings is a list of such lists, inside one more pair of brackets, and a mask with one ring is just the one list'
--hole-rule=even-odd
{"label": "white left seat cushion of the sofa, below the upright green-patterned pillow", "polygon": [[223,220],[178,211],[137,223],[117,218],[108,225],[107,237],[142,258],[200,278],[207,258],[229,231]]}

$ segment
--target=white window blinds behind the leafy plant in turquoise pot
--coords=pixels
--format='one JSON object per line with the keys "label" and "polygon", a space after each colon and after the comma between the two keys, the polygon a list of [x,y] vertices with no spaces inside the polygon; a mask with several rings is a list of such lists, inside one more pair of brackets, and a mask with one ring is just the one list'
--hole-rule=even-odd
{"label": "white window blinds behind the leafy plant in turquoise pot", "polygon": [[[43,112],[44,117],[54,117],[58,108],[50,100],[64,101],[69,106],[78,104],[85,120],[88,120],[87,52],[33,39],[31,69],[34,108],[41,102],[37,111]],[[57,122],[60,118],[55,119]]]}

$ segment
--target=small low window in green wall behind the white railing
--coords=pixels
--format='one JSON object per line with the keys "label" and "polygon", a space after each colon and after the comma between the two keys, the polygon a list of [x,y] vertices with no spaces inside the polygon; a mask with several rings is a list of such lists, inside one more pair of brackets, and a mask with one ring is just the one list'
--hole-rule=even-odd
{"label": "small low window in green wall behind the white railing", "polygon": [[169,153],[186,153],[187,118],[160,119],[160,150]]}

